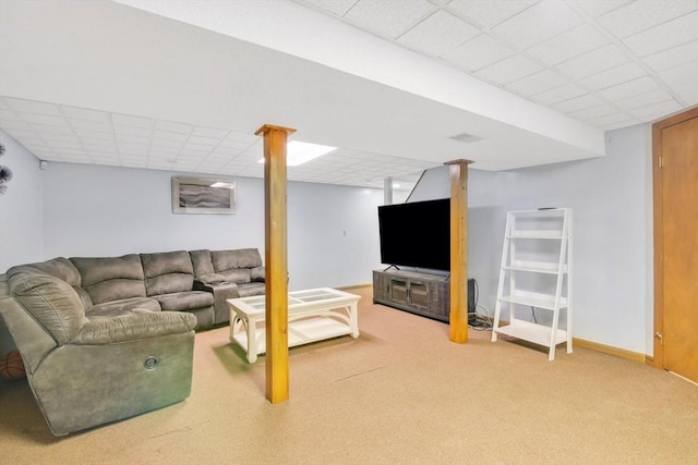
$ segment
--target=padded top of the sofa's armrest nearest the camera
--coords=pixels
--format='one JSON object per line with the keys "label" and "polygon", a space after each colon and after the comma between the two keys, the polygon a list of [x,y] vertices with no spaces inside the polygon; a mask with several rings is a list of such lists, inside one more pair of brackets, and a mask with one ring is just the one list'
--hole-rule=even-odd
{"label": "padded top of the sofa's armrest nearest the camera", "polygon": [[184,311],[136,313],[112,318],[95,318],[83,325],[70,343],[112,344],[193,331],[196,317]]}

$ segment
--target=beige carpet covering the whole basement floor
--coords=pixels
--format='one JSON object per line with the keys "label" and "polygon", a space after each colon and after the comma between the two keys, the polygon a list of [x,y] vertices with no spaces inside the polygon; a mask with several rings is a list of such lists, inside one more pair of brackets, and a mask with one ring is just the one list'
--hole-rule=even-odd
{"label": "beige carpet covering the whole basement floor", "polygon": [[55,438],[26,381],[0,384],[2,464],[698,464],[698,387],[611,355],[490,342],[362,295],[361,335],[290,351],[265,399],[228,329],[196,335],[191,396]]}

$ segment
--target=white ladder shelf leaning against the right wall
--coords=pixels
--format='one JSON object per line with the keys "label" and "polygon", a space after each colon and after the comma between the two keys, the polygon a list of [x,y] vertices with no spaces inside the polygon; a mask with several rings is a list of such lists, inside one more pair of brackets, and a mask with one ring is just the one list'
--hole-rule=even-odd
{"label": "white ladder shelf leaning against the right wall", "polygon": [[[571,353],[571,224],[570,208],[507,212],[492,342],[505,334],[543,345],[549,360],[563,342]],[[509,309],[506,326],[500,326],[503,305]],[[521,318],[526,307],[534,321]],[[537,308],[545,310],[547,323],[538,322]]]}

